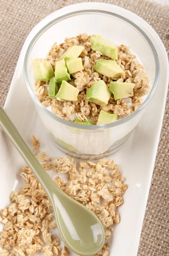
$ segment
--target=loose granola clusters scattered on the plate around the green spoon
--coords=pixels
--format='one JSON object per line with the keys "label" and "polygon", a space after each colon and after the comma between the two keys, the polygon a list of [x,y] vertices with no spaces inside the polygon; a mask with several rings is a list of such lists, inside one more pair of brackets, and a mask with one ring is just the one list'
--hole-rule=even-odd
{"label": "loose granola clusters scattered on the plate around the green spoon", "polygon": [[[37,149],[40,142],[32,136],[33,146]],[[84,204],[95,212],[105,228],[106,239],[114,231],[114,224],[120,223],[116,208],[123,203],[123,193],[127,189],[119,166],[113,160],[100,160],[98,163],[81,161],[77,168],[72,157],[53,159],[45,151],[37,156],[43,168],[58,174],[67,173],[68,181],[60,176],[54,182],[67,195]],[[26,166],[20,176],[24,185],[19,191],[12,191],[11,204],[1,211],[3,231],[0,233],[1,256],[35,255],[40,251],[44,256],[69,256],[64,245],[60,248],[59,238],[52,229],[56,227],[52,205],[32,170]],[[109,255],[109,243],[106,243],[97,255]]]}

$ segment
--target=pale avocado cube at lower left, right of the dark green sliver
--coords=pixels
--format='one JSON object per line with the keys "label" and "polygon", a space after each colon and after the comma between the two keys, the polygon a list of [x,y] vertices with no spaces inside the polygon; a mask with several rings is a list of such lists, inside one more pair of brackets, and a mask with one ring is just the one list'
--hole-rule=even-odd
{"label": "pale avocado cube at lower left, right of the dark green sliver", "polygon": [[78,94],[79,89],[63,80],[56,95],[56,99],[63,101],[77,101]]}

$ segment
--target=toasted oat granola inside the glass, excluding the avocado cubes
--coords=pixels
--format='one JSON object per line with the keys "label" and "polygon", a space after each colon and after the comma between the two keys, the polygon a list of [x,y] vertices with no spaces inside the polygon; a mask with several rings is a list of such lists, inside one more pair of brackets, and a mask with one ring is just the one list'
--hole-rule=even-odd
{"label": "toasted oat granola inside the glass, excluding the avocado cubes", "polygon": [[[150,86],[144,66],[137,63],[136,56],[130,52],[130,47],[124,44],[117,46],[118,59],[116,60],[116,63],[125,71],[125,73],[118,78],[113,79],[97,73],[94,70],[94,65],[97,60],[109,60],[111,58],[103,56],[101,52],[95,52],[91,49],[91,43],[89,41],[92,36],[95,35],[87,35],[86,33],[83,33],[72,38],[65,38],[65,41],[59,45],[55,42],[46,58],[46,60],[52,64],[53,69],[55,69],[56,62],[59,61],[59,57],[68,49],[68,47],[74,45],[85,47],[79,56],[82,58],[84,69],[73,73],[71,75],[72,80],[69,81],[70,84],[80,90],[77,101],[62,102],[57,99],[50,99],[47,89],[49,82],[37,81],[35,84],[35,93],[45,107],[52,105],[52,113],[60,118],[70,122],[74,122],[76,118],[80,121],[90,119],[93,124],[96,125],[99,113],[102,109],[108,113],[117,114],[117,120],[124,118],[135,111],[142,103],[141,97],[149,92]],[[134,95],[128,99],[120,99],[117,101],[111,96],[108,104],[103,107],[89,102],[86,99],[86,90],[100,79],[103,79],[108,87],[111,81],[135,83]],[[125,102],[125,100],[127,102]]]}

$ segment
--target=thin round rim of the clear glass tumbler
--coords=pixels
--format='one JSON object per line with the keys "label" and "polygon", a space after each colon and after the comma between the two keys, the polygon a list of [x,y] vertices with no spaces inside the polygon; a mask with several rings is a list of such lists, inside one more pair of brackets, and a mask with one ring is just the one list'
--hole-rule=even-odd
{"label": "thin round rim of the clear glass tumbler", "polygon": [[[140,105],[139,108],[137,108],[134,112],[129,114],[129,116],[126,116],[126,117],[124,117],[120,120],[117,120],[116,122],[108,123],[108,124],[105,124],[105,125],[81,125],[81,124],[76,124],[74,122],[67,121],[67,120],[62,119],[59,116],[55,115],[54,113],[49,111],[45,106],[43,106],[42,103],[37,99],[37,97],[35,96],[35,94],[32,90],[32,87],[29,83],[28,74],[27,74],[27,63],[28,63],[29,55],[30,55],[30,52],[32,51],[32,48],[34,47],[34,44],[37,42],[38,38],[40,38],[40,36],[43,35],[43,33],[47,29],[52,27],[54,24],[60,22],[61,20],[65,20],[68,17],[74,17],[74,16],[77,16],[77,15],[84,15],[84,14],[102,14],[102,15],[107,15],[107,16],[113,16],[113,17],[116,17],[116,18],[118,18],[120,20],[123,20],[124,22],[128,23],[130,26],[132,26],[134,29],[136,29],[137,32],[139,32],[143,36],[143,38],[145,39],[145,41],[149,45],[149,47],[152,51],[152,54],[154,56],[154,60],[155,60],[155,79],[154,79],[154,83],[152,85],[152,88],[151,88],[147,98],[144,100],[144,102]],[[115,126],[118,126],[118,125],[122,125],[123,123],[128,122],[129,120],[131,120],[133,117],[135,117],[138,113],[140,113],[146,107],[146,105],[152,99],[152,96],[154,95],[155,90],[157,89],[157,86],[158,86],[158,81],[159,81],[159,77],[160,77],[160,62],[159,62],[159,58],[158,58],[158,54],[156,52],[156,49],[155,49],[154,45],[152,44],[152,41],[149,39],[148,35],[146,35],[146,33],[142,29],[140,29],[139,26],[137,26],[135,23],[133,23],[131,20],[129,20],[126,17],[123,17],[121,15],[118,15],[116,13],[113,13],[113,12],[107,12],[107,11],[97,10],[97,9],[93,9],[93,10],[88,9],[88,10],[79,10],[79,11],[69,12],[65,15],[57,17],[57,18],[53,19],[52,21],[50,21],[49,23],[47,23],[45,26],[43,26],[43,28],[40,29],[36,33],[36,35],[32,38],[32,40],[31,40],[31,42],[28,46],[28,49],[26,50],[26,55],[25,55],[24,62],[23,62],[23,75],[24,75],[26,87],[27,87],[30,95],[32,96],[32,99],[34,100],[36,105],[42,111],[44,111],[48,116],[50,116],[52,119],[55,119],[57,122],[60,122],[64,125],[74,127],[74,128],[85,129],[85,130],[100,130],[100,129],[112,128],[112,127],[115,127]]]}

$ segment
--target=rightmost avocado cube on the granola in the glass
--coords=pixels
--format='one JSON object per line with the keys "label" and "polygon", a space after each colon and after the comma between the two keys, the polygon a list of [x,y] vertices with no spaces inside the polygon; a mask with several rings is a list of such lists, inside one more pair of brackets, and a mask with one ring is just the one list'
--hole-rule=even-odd
{"label": "rightmost avocado cube on the granola in the glass", "polygon": [[133,89],[135,84],[111,82],[110,91],[113,93],[114,99],[124,99],[133,96]]}

